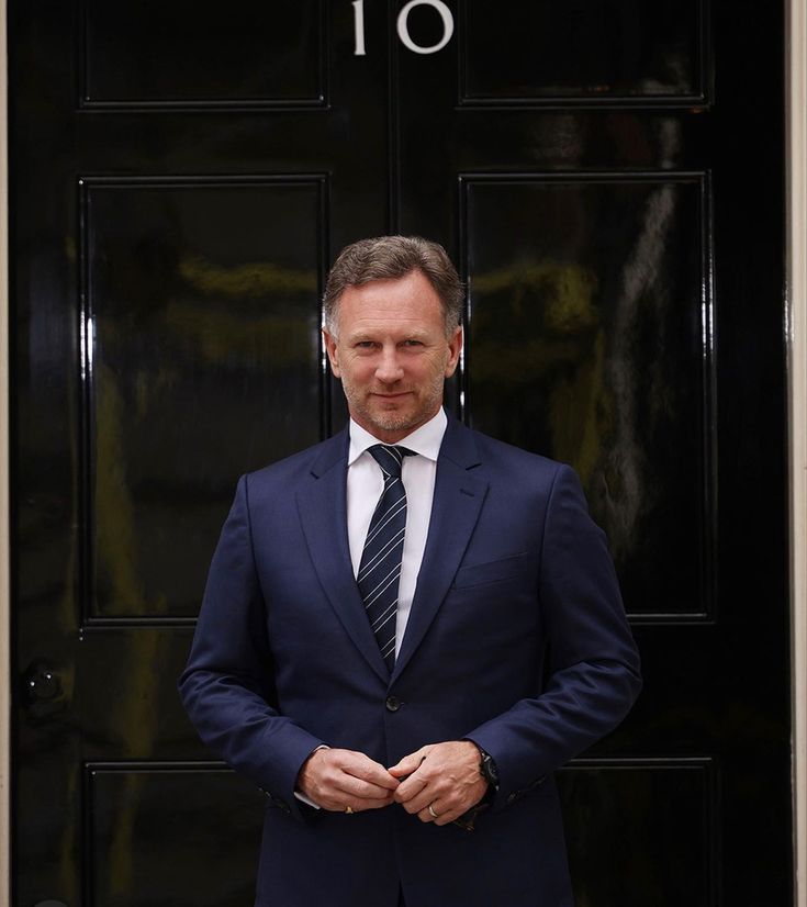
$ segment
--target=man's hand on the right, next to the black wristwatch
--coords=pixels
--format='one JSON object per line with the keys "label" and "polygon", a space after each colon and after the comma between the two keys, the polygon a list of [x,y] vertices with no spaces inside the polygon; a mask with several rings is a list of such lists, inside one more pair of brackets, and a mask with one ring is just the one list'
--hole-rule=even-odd
{"label": "man's hand on the right, next to the black wristwatch", "polygon": [[470,740],[421,747],[390,769],[394,777],[406,779],[395,791],[395,800],[423,822],[448,825],[487,791],[479,761],[479,749]]}

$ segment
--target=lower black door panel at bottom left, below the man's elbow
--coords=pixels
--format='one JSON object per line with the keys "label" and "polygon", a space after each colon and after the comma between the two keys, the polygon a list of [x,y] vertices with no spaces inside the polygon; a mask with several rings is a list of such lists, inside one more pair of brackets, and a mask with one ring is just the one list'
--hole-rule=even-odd
{"label": "lower black door panel at bottom left, below the man's elbow", "polygon": [[[186,904],[188,892],[210,907],[250,903],[265,797],[247,781],[215,763],[100,762],[85,766],[85,784],[90,903]],[[200,784],[212,807],[203,822]]]}

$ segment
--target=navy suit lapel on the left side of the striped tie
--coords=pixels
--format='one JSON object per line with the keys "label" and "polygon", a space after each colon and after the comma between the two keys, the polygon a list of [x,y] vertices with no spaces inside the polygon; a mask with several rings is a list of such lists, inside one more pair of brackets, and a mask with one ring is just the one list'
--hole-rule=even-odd
{"label": "navy suit lapel on the left side of the striped tie", "polygon": [[320,583],[346,631],[383,680],[389,671],[365,613],[347,538],[347,430],[323,445],[310,481],[298,491],[298,512]]}

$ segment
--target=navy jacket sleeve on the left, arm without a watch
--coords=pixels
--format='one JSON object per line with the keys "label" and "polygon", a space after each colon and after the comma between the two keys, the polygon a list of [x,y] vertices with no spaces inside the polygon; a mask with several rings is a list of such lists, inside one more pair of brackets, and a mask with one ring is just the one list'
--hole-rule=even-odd
{"label": "navy jacket sleeve on the left, arm without a watch", "polygon": [[294,797],[298,772],[323,741],[271,705],[273,670],[265,607],[243,477],[213,556],[179,690],[204,743],[300,817]]}

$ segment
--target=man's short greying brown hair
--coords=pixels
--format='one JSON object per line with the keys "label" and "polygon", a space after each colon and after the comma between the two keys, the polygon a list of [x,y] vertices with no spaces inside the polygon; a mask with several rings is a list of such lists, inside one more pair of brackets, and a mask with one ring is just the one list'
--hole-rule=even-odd
{"label": "man's short greying brown hair", "polygon": [[396,280],[421,271],[442,304],[446,336],[460,323],[462,284],[448,253],[439,243],[419,236],[376,236],[346,246],[334,262],[325,284],[325,327],[336,337],[339,298],[349,287],[373,280]]}

